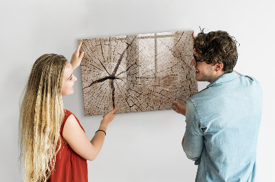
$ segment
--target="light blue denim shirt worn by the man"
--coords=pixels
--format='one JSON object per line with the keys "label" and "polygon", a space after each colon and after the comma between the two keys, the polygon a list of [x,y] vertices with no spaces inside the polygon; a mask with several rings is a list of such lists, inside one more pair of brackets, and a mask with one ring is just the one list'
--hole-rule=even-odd
{"label": "light blue denim shirt worn by the man", "polygon": [[184,152],[195,181],[255,181],[262,90],[256,79],[221,75],[186,102]]}

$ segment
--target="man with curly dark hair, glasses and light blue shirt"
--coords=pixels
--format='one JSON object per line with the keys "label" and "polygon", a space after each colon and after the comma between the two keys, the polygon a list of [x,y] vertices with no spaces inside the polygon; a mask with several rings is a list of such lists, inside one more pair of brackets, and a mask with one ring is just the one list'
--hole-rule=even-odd
{"label": "man with curly dark hair, glasses and light blue shirt", "polygon": [[[256,79],[233,71],[236,40],[225,31],[194,36],[196,80],[210,84],[186,102],[182,146],[198,166],[195,181],[255,181],[262,91]],[[249,64],[249,62],[248,62]]]}

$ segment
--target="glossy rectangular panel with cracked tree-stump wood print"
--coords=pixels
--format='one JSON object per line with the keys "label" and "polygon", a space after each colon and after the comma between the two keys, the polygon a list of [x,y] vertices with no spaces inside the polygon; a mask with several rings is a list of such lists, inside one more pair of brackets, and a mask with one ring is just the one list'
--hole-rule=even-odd
{"label": "glossy rectangular panel with cracked tree-stump wood print", "polygon": [[85,115],[172,109],[197,93],[192,31],[79,41]]}

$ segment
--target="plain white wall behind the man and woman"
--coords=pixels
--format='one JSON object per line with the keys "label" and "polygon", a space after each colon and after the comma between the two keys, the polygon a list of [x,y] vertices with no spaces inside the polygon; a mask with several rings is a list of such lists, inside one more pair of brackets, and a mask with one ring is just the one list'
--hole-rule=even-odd
{"label": "plain white wall behind the man and woman", "polygon": [[[274,173],[274,3],[272,1],[1,1],[0,181],[21,181],[18,167],[19,98],[34,61],[44,53],[70,59],[78,38],[163,31],[225,30],[241,44],[235,70],[259,79],[263,117],[259,181]],[[80,68],[75,93],[64,98],[89,138],[102,116],[84,116]],[[200,83],[201,90],[206,83]],[[89,181],[195,181],[197,167],[181,148],[185,118],[172,110],[118,114],[102,151],[88,162]],[[249,136],[248,136],[249,137]],[[238,142],[238,141],[236,141]],[[274,180],[274,179],[273,179]]]}

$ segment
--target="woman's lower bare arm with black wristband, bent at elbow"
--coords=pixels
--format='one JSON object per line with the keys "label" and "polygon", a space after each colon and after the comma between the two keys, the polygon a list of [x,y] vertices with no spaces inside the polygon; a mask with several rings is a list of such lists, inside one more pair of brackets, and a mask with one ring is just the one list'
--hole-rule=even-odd
{"label": "woman's lower bare arm with black wristband, bent at elbow", "polygon": [[[115,108],[108,114],[103,116],[100,122],[99,129],[106,132],[109,122],[115,117],[115,112],[118,109]],[[63,129],[63,137],[69,146],[81,157],[87,160],[94,160],[98,156],[100,149],[102,148],[105,133],[103,131],[98,131],[94,135],[94,138],[89,140],[83,129],[78,125],[78,121],[72,114],[67,118]]]}

